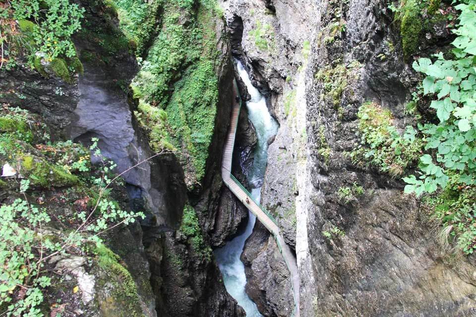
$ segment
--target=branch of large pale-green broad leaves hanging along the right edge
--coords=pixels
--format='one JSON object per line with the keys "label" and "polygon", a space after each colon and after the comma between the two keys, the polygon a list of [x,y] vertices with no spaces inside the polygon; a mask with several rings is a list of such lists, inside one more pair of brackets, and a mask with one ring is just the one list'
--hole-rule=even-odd
{"label": "branch of large pale-green broad leaves hanging along the right edge", "polygon": [[418,124],[424,135],[425,150],[420,157],[419,176],[404,178],[406,193],[432,193],[448,183],[447,171],[459,174],[466,185],[475,184],[476,148],[476,1],[467,0],[455,6],[461,11],[459,24],[453,32],[455,59],[420,58],[414,62],[416,71],[426,75],[422,82],[423,95],[436,97],[430,107],[436,110],[438,124]]}

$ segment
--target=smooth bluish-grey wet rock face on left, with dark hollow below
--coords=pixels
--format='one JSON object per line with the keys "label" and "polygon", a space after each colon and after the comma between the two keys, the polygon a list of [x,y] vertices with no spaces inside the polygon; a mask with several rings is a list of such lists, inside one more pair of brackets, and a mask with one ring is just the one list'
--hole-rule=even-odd
{"label": "smooth bluish-grey wet rock face on left, with dark hollow below", "polygon": [[[93,10],[88,20],[106,24],[106,30],[116,30],[114,36],[124,37],[114,21],[102,21]],[[186,200],[183,171],[172,155],[153,157],[155,153],[132,115],[136,105],[127,98],[127,85],[137,72],[134,56],[119,51],[109,56],[106,63],[105,57],[89,57],[110,54],[90,37],[78,36],[75,42],[84,73],[79,77],[80,99],[75,120],[68,128],[71,139],[84,144],[90,144],[92,138],[99,139],[101,154],[117,164],[119,173],[125,172],[122,176],[134,208],[148,211],[143,224],[165,230],[178,228]]]}

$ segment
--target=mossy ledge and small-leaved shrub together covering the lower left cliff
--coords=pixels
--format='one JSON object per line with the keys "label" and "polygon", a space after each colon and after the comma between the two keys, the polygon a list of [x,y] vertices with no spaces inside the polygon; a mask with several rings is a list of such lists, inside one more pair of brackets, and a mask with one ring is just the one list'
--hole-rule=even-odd
{"label": "mossy ledge and small-leaved shrub together covering the lower left cliff", "polygon": [[[6,165],[0,186],[8,193],[0,207],[1,314],[49,316],[42,302],[52,283],[50,261],[87,256],[105,232],[143,214],[123,211],[110,199],[114,164],[102,158],[98,140],[89,149],[71,141],[51,144],[37,116],[7,105],[0,118],[0,161]],[[89,151],[103,159],[101,167],[91,165]],[[128,299],[129,316],[139,316],[130,274],[100,245],[98,250],[99,265],[119,275],[116,298]]]}

